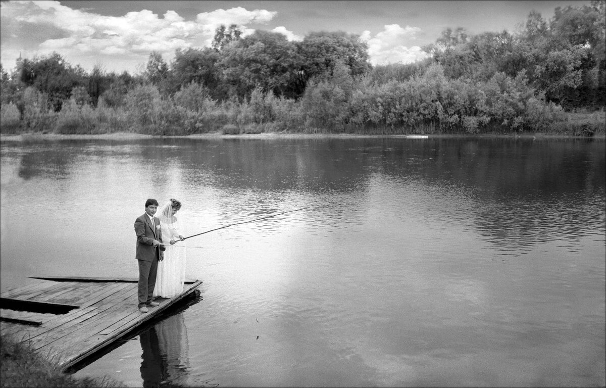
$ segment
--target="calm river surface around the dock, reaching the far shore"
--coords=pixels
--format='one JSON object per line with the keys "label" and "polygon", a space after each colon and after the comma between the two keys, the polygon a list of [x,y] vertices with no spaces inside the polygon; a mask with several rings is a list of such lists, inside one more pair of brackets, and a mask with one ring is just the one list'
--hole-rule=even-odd
{"label": "calm river surface around the dock, reaching the far shore", "polygon": [[[143,386],[604,386],[604,139],[3,140],[2,289],[135,277],[179,199],[201,297],[75,373]],[[136,301],[133,301],[135,308]]]}

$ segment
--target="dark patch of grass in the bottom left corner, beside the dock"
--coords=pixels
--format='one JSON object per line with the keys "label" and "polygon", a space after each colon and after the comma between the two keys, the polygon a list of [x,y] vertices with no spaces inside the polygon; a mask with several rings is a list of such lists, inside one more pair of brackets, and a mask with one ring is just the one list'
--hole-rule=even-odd
{"label": "dark patch of grass in the bottom left corner, beside the dock", "polygon": [[110,377],[76,379],[13,336],[0,335],[0,387],[125,387]]}

